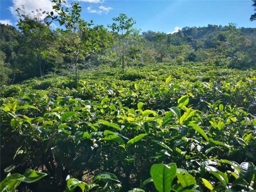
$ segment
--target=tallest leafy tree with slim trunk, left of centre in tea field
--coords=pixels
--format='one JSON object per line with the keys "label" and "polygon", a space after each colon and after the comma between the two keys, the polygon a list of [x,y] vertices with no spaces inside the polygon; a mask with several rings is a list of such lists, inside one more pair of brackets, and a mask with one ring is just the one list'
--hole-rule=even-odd
{"label": "tallest leafy tree with slim trunk, left of centre in tea field", "polygon": [[[65,29],[57,28],[57,31],[66,37],[65,50],[70,53],[71,64],[75,65],[76,86],[78,83],[78,61],[94,54],[101,49],[99,43],[106,45],[107,29],[102,26],[90,28],[91,20],[86,22],[80,15],[82,7],[78,2],[71,3],[71,7],[64,7],[65,0],[53,0],[54,12],[48,13],[48,17],[58,21]],[[104,35],[103,35],[104,34]]]}

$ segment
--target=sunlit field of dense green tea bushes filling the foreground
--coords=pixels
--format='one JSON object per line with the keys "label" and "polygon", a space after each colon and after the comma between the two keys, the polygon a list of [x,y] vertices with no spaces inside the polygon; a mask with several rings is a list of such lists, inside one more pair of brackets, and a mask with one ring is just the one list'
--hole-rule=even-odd
{"label": "sunlit field of dense green tea bushes filling the foreground", "polygon": [[255,70],[141,64],[80,79],[77,88],[72,75],[48,75],[1,90],[1,180],[34,169],[47,176],[17,189],[256,188]]}

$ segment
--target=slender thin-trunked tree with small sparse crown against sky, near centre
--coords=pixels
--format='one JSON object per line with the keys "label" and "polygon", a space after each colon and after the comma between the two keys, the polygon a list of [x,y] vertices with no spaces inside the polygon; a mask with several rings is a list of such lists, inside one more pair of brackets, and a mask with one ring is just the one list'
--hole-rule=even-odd
{"label": "slender thin-trunked tree with small sparse crown against sky, near centre", "polygon": [[126,14],[119,14],[118,17],[113,18],[115,21],[112,25],[107,25],[112,29],[112,32],[115,35],[118,44],[122,50],[121,60],[122,60],[122,68],[125,70],[125,38],[128,37],[132,32],[134,32],[134,28],[132,26],[136,23],[133,18],[128,18]]}

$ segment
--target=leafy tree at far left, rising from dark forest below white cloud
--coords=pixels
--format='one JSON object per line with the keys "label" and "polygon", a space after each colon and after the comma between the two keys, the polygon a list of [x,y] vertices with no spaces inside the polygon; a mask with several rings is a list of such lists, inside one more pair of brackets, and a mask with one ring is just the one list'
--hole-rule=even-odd
{"label": "leafy tree at far left, rising from dark forest below white cloud", "polygon": [[49,43],[54,39],[50,22],[46,17],[43,18],[45,12],[42,12],[42,9],[37,9],[36,13],[32,11],[30,14],[26,13],[22,6],[22,9],[18,8],[16,11],[20,18],[17,26],[24,35],[23,43],[36,53],[38,73],[42,76],[45,68],[45,63],[42,65],[43,53],[45,54]]}

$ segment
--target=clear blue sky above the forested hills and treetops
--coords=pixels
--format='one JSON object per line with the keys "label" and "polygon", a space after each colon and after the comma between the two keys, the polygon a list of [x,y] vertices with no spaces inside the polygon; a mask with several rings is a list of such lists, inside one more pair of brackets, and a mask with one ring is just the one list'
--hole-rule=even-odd
{"label": "clear blue sky above the forested hills and treetops", "polygon": [[[207,24],[237,27],[256,27],[249,21],[254,13],[252,0],[78,0],[85,21],[111,24],[111,18],[125,13],[137,21],[135,27],[142,31],[173,32],[185,26]],[[72,0],[68,0],[72,2]],[[0,0],[0,22],[15,25],[15,9],[24,4],[28,11],[42,8],[49,11],[51,0]]]}

